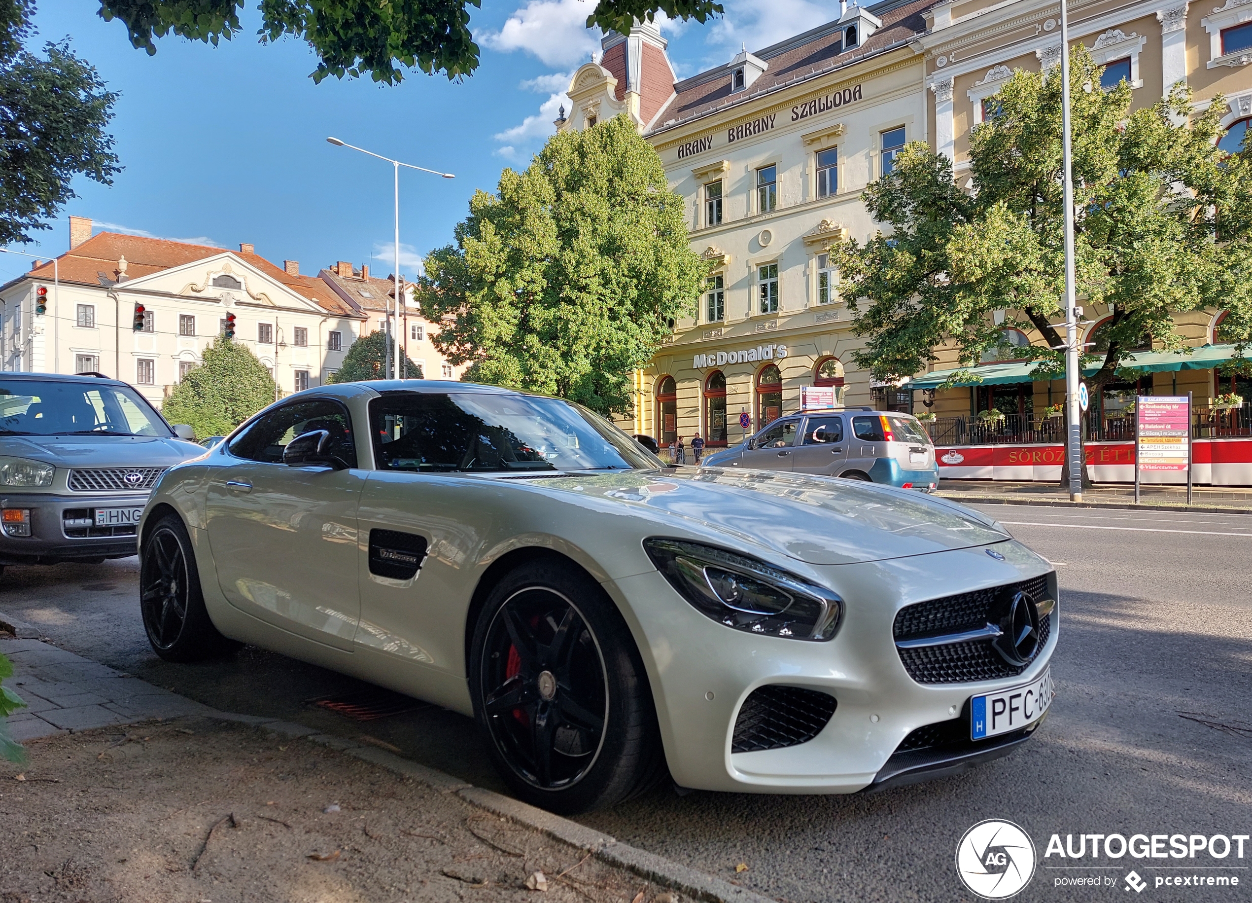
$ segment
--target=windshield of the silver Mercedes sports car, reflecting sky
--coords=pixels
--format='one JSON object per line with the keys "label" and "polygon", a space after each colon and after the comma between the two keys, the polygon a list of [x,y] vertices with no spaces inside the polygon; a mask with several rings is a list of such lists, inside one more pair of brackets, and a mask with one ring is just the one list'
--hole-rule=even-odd
{"label": "windshield of the silver Mercedes sports car, reflecting sky", "polygon": [[571,472],[664,465],[608,421],[558,398],[388,392],[369,402],[382,470]]}

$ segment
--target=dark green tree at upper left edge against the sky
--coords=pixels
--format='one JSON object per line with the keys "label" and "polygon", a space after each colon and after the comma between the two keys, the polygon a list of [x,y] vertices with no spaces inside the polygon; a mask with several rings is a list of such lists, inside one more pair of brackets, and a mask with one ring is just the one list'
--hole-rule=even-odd
{"label": "dark green tree at upper left edge against the sky", "polygon": [[29,0],[0,0],[0,245],[31,240],[76,197],[75,175],[113,184],[105,126],[116,94],[68,43],[30,53]]}

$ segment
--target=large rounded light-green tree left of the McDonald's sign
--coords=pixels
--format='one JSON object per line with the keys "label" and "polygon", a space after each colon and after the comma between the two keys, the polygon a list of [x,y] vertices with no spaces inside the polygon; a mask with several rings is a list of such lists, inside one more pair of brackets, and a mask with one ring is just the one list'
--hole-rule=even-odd
{"label": "large rounded light-green tree left of the McDonald's sign", "polygon": [[695,312],[707,272],[684,208],[627,116],[557,133],[427,257],[416,294],[442,321],[436,347],[475,382],[630,411],[630,371]]}

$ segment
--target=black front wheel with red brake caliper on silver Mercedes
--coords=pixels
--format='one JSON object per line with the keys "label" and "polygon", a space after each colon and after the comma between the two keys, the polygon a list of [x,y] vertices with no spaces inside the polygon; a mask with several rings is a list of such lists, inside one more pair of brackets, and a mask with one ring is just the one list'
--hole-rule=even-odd
{"label": "black front wheel with red brake caliper on silver Mercedes", "polygon": [[492,589],[475,625],[470,691],[497,770],[532,805],[586,812],[666,775],[634,637],[571,565],[530,562]]}

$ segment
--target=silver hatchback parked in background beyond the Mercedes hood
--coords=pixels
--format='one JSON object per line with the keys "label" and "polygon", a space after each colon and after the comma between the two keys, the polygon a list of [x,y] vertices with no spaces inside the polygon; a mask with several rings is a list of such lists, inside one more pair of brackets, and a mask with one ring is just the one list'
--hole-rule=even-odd
{"label": "silver hatchback parked in background beyond the Mercedes hood", "polygon": [[702,463],[820,473],[923,492],[939,486],[935,447],[918,418],[873,408],[780,417]]}

